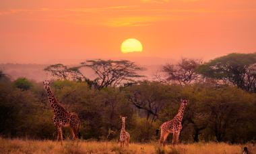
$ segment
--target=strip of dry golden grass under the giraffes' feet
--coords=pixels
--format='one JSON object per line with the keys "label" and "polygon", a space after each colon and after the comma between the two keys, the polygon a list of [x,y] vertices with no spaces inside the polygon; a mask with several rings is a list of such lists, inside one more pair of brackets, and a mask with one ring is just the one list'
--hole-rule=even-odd
{"label": "strip of dry golden grass under the giraffes' feet", "polygon": [[63,141],[56,147],[55,141],[33,141],[24,139],[4,139],[0,137],[0,153],[242,153],[243,147],[247,146],[250,154],[256,153],[256,146],[248,143],[245,145],[229,145],[227,143],[190,143],[172,147],[168,143],[165,149],[158,149],[157,143],[131,143],[129,149],[121,149],[117,141]]}

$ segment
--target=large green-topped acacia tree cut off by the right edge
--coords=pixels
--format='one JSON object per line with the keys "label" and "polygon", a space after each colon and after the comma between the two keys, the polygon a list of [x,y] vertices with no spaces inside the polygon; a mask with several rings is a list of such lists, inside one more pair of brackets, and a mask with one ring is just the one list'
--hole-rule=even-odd
{"label": "large green-topped acacia tree cut off by the right edge", "polygon": [[210,60],[197,68],[203,77],[227,80],[238,88],[256,92],[256,52],[253,54],[232,53]]}

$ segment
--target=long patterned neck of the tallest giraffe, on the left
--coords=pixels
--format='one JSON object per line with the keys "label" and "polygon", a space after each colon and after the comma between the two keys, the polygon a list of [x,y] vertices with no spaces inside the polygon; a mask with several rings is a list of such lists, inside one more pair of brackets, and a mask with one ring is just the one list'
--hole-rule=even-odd
{"label": "long patterned neck of the tallest giraffe, on the left", "polygon": [[61,106],[61,104],[59,104],[59,102],[57,102],[55,96],[53,95],[53,92],[51,91],[50,87],[46,88],[48,97],[49,97],[49,103],[51,105],[51,108],[53,108],[53,111],[55,112],[55,114],[58,111],[61,112],[67,112],[67,110],[65,110],[65,108],[63,108],[63,106]]}

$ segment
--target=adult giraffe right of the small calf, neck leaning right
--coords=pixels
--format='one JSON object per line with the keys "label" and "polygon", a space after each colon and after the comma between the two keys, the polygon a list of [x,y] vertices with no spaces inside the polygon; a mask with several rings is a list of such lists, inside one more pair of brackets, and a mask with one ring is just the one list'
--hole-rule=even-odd
{"label": "adult giraffe right of the small calf, neck leaning right", "polygon": [[[181,107],[179,108],[178,114],[171,121],[167,121],[160,126],[160,129],[162,131],[161,131],[161,137],[159,139],[158,147],[160,147],[161,141],[164,147],[166,138],[168,137],[169,133],[173,134],[172,145],[174,145],[175,138],[177,138],[177,145],[179,145],[179,135],[182,129],[181,121],[183,119],[185,107],[187,106],[187,102],[189,102],[189,100],[187,100],[186,98],[184,100],[181,100],[181,102],[182,103],[181,103]],[[158,135],[158,131],[160,129],[156,130],[156,135]]]}

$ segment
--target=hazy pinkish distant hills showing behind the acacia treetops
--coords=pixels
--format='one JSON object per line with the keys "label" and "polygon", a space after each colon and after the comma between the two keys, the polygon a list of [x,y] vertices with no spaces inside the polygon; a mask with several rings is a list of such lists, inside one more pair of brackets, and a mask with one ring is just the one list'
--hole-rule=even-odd
{"label": "hazy pinkish distant hills showing behind the acacia treetops", "polygon": [[[123,58],[110,58],[111,60],[121,60]],[[171,60],[168,58],[156,58],[156,57],[150,57],[150,58],[125,58],[123,60],[130,60],[131,62],[135,62],[139,67],[147,68],[146,71],[138,72],[140,75],[147,76],[146,78],[152,78],[152,74],[154,74],[156,71],[160,69],[160,66],[163,64],[166,64],[166,62],[169,63],[175,63],[176,60]],[[109,60],[109,58],[106,58],[106,60]],[[76,64],[75,64],[76,62]],[[11,76],[13,80],[20,78],[20,77],[26,77],[28,79],[36,80],[36,81],[42,81],[47,80],[50,78],[53,78],[51,76],[51,73],[43,71],[43,69],[46,66],[50,66],[53,64],[63,64],[67,67],[73,67],[78,66],[80,62],[85,62],[85,60],[49,60],[44,64],[13,64],[13,63],[7,63],[7,64],[1,64],[0,68],[4,69],[4,73]],[[98,76],[94,74],[93,70],[91,68],[81,68],[80,71],[86,76],[86,78],[89,78],[90,80],[94,80]]]}

